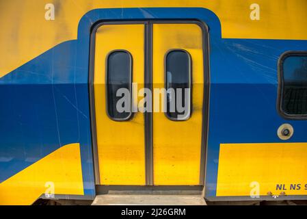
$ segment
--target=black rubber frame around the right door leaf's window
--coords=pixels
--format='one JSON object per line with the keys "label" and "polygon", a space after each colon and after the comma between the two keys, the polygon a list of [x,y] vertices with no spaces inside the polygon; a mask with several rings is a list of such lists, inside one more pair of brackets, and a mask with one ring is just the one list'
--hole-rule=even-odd
{"label": "black rubber frame around the right door leaf's window", "polygon": [[[167,90],[167,78],[168,78],[168,73],[167,73],[167,65],[166,65],[166,61],[167,61],[167,57],[168,57],[168,54],[170,54],[171,52],[174,52],[174,51],[182,51],[184,53],[187,54],[187,57],[189,57],[189,81],[188,81],[188,85],[190,88],[190,95],[189,95],[189,115],[187,116],[187,118],[185,119],[178,119],[178,118],[172,118],[170,116],[168,116],[168,112],[166,110],[166,112],[164,112],[164,115],[166,116],[166,118],[168,118],[169,120],[172,120],[172,121],[187,121],[189,120],[189,118],[191,118],[191,115],[192,115],[192,91],[193,91],[193,88],[192,88],[192,58],[191,58],[191,54],[185,50],[185,49],[169,49],[168,51],[166,51],[165,55],[164,55],[164,88],[165,90]],[[165,98],[167,98],[166,94],[165,94]],[[165,101],[167,103],[167,101]],[[167,107],[167,106],[165,106]]]}

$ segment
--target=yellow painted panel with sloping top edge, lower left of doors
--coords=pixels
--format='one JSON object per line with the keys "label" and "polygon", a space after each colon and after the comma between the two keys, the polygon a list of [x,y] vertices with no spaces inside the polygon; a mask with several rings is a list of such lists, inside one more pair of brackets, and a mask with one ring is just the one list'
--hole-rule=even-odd
{"label": "yellow painted panel with sloping top edge, lower left of doors", "polygon": [[0,205],[31,205],[51,183],[54,194],[84,194],[79,143],[62,146],[0,183]]}

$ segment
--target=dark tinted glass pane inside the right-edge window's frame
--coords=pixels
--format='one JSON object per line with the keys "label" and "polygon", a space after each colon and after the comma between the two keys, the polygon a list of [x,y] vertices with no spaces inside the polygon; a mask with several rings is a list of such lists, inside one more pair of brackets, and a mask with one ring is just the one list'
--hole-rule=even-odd
{"label": "dark tinted glass pane inside the right-edge window's frame", "polygon": [[286,57],[282,79],[282,110],[289,115],[307,114],[307,55]]}

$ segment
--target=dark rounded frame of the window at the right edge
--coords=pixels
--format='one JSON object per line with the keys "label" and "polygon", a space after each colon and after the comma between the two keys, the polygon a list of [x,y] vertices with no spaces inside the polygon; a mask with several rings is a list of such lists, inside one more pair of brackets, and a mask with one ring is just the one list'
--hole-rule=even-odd
{"label": "dark rounded frame of the window at the right edge", "polygon": [[284,92],[284,60],[290,56],[304,56],[307,57],[307,51],[286,51],[280,55],[278,59],[278,98],[277,98],[277,111],[282,118],[286,120],[307,120],[307,114],[287,114],[282,109],[283,92]]}

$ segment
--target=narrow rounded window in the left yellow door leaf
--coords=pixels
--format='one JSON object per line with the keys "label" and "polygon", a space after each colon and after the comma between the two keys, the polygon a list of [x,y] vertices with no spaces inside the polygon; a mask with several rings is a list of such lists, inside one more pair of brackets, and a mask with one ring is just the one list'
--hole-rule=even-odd
{"label": "narrow rounded window in the left yellow door leaf", "polygon": [[[107,55],[106,82],[107,115],[112,120],[129,120],[132,116],[132,56],[128,51],[116,50]],[[123,96],[129,96],[129,100],[120,101]]]}

